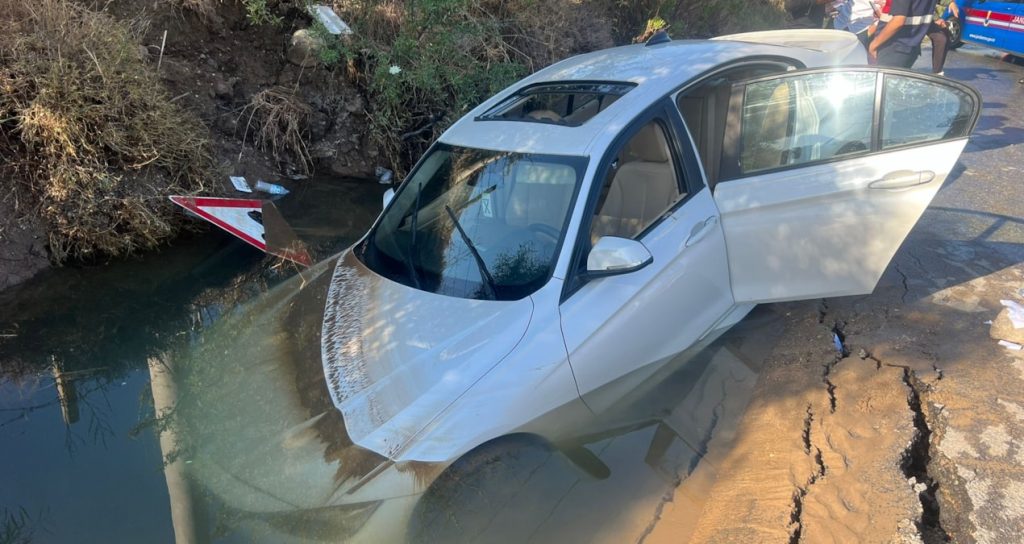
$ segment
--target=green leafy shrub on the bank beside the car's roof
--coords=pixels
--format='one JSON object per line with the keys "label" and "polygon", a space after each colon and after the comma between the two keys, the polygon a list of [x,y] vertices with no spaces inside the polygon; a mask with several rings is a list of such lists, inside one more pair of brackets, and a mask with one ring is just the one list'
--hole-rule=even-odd
{"label": "green leafy shrub on the bank beside the car's roof", "polygon": [[[554,59],[593,48],[570,43],[594,34],[587,25],[573,28],[572,17],[585,13],[574,2],[353,0],[335,8],[356,31],[342,56],[366,90],[371,136],[399,171],[481,100]],[[543,17],[556,10],[567,15]],[[539,39],[531,27],[553,34]]]}

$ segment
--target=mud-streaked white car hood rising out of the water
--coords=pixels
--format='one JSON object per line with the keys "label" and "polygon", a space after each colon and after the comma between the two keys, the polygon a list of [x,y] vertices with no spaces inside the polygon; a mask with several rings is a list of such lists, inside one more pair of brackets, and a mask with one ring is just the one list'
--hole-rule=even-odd
{"label": "mud-streaked white car hood rising out of the water", "polygon": [[529,297],[473,300],[414,289],[346,252],[331,278],[321,354],[351,441],[409,460],[401,452],[512,351],[532,312]]}

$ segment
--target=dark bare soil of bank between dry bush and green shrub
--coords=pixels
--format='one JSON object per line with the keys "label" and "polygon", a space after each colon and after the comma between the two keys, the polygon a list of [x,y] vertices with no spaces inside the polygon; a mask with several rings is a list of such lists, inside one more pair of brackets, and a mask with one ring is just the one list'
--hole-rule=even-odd
{"label": "dark bare soil of bank between dry bush and green shrub", "polygon": [[[282,10],[280,25],[253,25],[241,2],[220,2],[200,15],[172,2],[114,0],[98,6],[122,20],[139,20],[141,48],[172,99],[210,127],[224,174],[276,180],[308,174],[293,153],[274,155],[253,145],[259,117],[247,108],[262,90],[280,87],[308,108],[299,129],[314,170],[343,177],[370,177],[376,151],[367,144],[365,102],[344,70],[299,67],[287,59],[292,33],[308,26],[296,4]],[[218,180],[230,189],[226,178]]]}

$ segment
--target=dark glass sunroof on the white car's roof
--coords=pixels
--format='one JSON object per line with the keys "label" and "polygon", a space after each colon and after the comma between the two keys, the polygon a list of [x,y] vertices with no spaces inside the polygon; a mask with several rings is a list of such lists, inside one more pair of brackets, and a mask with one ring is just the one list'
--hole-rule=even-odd
{"label": "dark glass sunroof on the white car's roof", "polygon": [[523,87],[477,117],[482,121],[531,121],[580,126],[622,98],[635,83],[539,83]]}

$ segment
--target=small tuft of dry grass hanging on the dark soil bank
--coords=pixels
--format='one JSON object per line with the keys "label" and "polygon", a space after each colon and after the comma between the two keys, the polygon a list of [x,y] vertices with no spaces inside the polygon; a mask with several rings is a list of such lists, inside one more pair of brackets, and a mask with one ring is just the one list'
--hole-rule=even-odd
{"label": "small tuft of dry grass hanging on the dark soil bank", "polygon": [[309,173],[312,161],[306,148],[305,134],[312,109],[292,89],[271,87],[253,95],[242,112],[247,119],[244,138],[263,151],[270,152],[276,160],[286,155]]}

